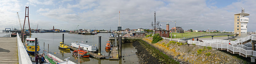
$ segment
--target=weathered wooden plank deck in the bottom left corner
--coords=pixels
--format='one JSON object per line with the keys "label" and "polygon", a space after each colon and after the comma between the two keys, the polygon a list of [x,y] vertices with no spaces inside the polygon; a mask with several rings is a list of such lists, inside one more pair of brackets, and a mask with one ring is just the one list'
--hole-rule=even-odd
{"label": "weathered wooden plank deck in the bottom left corner", "polygon": [[18,64],[17,37],[0,37],[0,64]]}

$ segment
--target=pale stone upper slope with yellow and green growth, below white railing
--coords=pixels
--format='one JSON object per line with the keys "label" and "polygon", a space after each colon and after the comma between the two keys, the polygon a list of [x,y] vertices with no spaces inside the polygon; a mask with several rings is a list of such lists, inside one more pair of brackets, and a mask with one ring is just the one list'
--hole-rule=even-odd
{"label": "pale stone upper slope with yellow and green growth, below white railing", "polygon": [[180,44],[177,42],[160,41],[151,44],[152,38],[143,38],[148,44],[161,50],[182,64],[244,64],[247,61],[216,50],[211,47]]}

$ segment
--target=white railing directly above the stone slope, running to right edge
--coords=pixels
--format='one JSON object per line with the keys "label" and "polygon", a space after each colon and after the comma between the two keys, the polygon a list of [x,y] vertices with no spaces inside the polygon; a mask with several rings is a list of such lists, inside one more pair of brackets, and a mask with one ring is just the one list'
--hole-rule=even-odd
{"label": "white railing directly above the stone slope, running to right edge", "polygon": [[252,56],[256,56],[256,51],[253,50],[246,50],[244,48],[241,47],[234,47],[230,44],[219,44],[219,43],[206,43],[206,42],[198,42],[198,41],[188,41],[188,44],[195,44],[195,45],[199,45],[199,46],[209,46],[209,47],[214,47],[214,48],[220,48],[220,49],[227,49],[227,50],[231,50],[230,52],[233,52],[233,54],[235,54],[235,52],[238,52],[239,55],[244,54],[245,57],[247,57],[247,55],[252,55]]}

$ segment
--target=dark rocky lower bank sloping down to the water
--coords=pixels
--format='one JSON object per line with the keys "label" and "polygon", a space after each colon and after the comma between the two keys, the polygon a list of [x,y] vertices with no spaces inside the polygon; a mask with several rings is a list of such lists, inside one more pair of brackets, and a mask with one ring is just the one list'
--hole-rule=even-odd
{"label": "dark rocky lower bank sloping down to the water", "polygon": [[135,41],[132,45],[137,49],[140,64],[179,64],[142,40]]}

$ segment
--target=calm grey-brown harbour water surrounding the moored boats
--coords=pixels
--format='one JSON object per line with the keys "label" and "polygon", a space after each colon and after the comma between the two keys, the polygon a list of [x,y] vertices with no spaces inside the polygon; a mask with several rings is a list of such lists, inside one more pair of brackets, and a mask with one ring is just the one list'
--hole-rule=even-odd
{"label": "calm grey-brown harbour water surrounding the moored boats", "polygon": [[[63,33],[32,33],[31,38],[38,38],[40,51],[39,53],[43,53],[43,49],[48,50],[49,44],[49,51],[51,52],[61,52],[61,53],[71,53],[72,51],[62,50],[59,49],[60,42],[62,41],[62,34]],[[110,33],[98,33],[96,35],[81,35],[81,34],[70,34],[64,33],[64,43],[70,45],[71,42],[75,41],[84,41],[92,44],[99,43],[98,36],[101,36],[101,53],[106,53],[105,45],[108,41]],[[94,37],[94,38],[93,38]],[[45,43],[45,46],[44,46]],[[127,43],[122,45],[122,55],[124,56],[120,60],[108,60],[108,59],[95,59],[95,58],[80,58],[81,64],[138,64],[138,58],[135,54],[137,50],[132,46],[132,43]],[[53,54],[53,53],[51,53]],[[72,54],[53,54],[64,61],[65,58],[70,57],[68,60],[75,61],[74,56]],[[77,58],[78,59],[78,58]],[[123,60],[124,59],[124,60]],[[125,62],[124,62],[125,61]]]}

